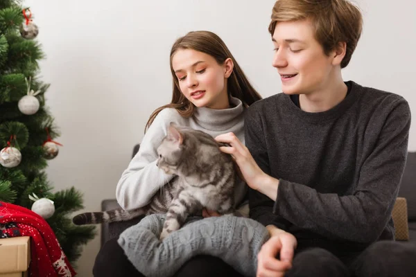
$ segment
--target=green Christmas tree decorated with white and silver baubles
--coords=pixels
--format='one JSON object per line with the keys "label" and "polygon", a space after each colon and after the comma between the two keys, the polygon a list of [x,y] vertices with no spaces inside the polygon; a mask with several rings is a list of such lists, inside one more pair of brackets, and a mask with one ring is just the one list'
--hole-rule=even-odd
{"label": "green Christmas tree decorated with white and silver baubles", "polygon": [[83,208],[81,193],[75,188],[53,193],[44,172],[60,144],[53,141],[59,130],[45,106],[49,84],[36,78],[37,62],[44,58],[37,33],[29,8],[0,1],[0,201],[42,215],[74,262],[95,227],[73,225],[71,213]]}

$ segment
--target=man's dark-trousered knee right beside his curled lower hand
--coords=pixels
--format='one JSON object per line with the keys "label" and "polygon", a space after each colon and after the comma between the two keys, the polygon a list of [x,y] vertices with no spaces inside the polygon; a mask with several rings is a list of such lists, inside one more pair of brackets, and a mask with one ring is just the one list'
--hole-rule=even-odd
{"label": "man's dark-trousered knee right beside his curled lower hand", "polygon": [[347,277],[349,271],[343,262],[331,252],[325,249],[312,248],[295,255],[293,267],[285,276]]}

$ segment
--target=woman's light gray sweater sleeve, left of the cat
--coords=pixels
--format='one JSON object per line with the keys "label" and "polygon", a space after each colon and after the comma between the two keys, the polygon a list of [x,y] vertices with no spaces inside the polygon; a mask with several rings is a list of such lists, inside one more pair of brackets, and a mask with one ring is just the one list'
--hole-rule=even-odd
{"label": "woman's light gray sweater sleeve, left of the cat", "polygon": [[173,178],[156,166],[157,147],[166,136],[168,123],[180,116],[175,110],[162,110],[148,128],[139,152],[121,175],[116,199],[125,210],[146,206],[157,190]]}

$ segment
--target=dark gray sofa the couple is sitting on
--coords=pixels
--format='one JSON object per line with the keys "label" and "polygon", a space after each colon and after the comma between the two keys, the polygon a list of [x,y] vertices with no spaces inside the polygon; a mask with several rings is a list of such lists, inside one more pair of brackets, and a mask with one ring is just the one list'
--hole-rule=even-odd
{"label": "dark gray sofa the couple is sitting on", "polygon": [[[139,150],[139,145],[135,145],[132,157]],[[408,152],[406,168],[401,179],[399,197],[393,210],[393,220],[401,220],[400,228],[397,234],[401,234],[399,240],[401,243],[412,243],[416,246],[416,152]],[[108,211],[114,208],[120,208],[116,199],[105,199],[101,202],[101,211]],[[137,224],[142,217],[137,217],[126,222],[111,222],[110,224],[101,224],[101,246],[111,238],[118,238],[121,232],[129,226]],[[403,224],[407,220],[407,224]],[[406,223],[406,222],[404,222]],[[403,235],[406,233],[406,235]],[[396,236],[398,239],[398,235]]]}

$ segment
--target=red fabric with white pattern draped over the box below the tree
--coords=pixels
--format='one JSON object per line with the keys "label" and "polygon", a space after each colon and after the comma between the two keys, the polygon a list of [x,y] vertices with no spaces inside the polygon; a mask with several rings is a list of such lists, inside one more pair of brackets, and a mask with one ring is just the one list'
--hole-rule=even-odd
{"label": "red fabric with white pattern draped over the box below the tree", "polygon": [[31,237],[31,277],[76,276],[51,226],[37,213],[27,208],[0,202],[2,238]]}

